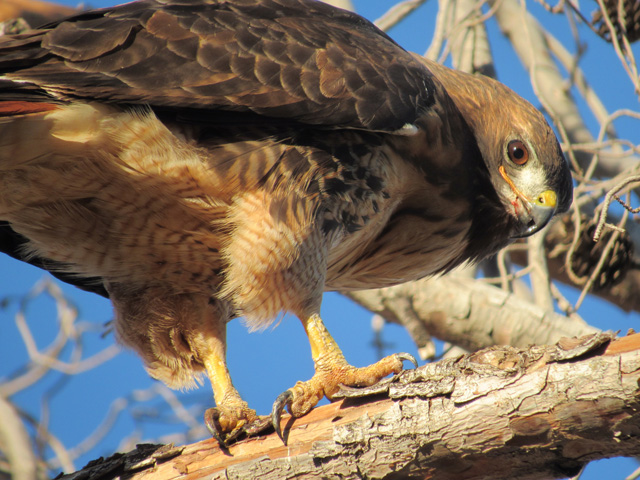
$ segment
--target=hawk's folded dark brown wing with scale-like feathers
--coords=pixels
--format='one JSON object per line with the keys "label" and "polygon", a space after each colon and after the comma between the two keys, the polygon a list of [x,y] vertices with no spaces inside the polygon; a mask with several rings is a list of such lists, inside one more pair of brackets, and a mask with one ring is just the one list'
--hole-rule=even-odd
{"label": "hawk's folded dark brown wing with scale-like feathers", "polygon": [[0,99],[40,92],[389,132],[434,90],[373,24],[316,0],[143,0],[80,14],[0,39],[1,76],[37,88],[5,80]]}

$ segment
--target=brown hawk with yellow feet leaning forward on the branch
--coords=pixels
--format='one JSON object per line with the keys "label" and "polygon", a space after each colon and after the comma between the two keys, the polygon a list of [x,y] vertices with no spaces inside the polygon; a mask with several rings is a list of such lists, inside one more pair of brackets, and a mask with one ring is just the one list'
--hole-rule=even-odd
{"label": "brown hawk with yellow feet leaning forward on the branch", "polygon": [[141,0],[0,38],[0,248],[108,295],[154,378],[206,374],[221,441],[260,423],[226,323],[302,321],[315,375],[272,413],[371,385],[322,292],[494,254],[571,202],[543,116],[313,0]]}

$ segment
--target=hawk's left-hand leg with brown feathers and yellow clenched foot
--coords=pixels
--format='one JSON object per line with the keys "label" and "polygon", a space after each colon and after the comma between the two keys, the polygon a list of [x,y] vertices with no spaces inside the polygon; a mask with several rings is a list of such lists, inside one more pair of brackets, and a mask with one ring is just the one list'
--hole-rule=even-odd
{"label": "hawk's left-hand leg with brown feathers and yellow clenched foot", "polygon": [[171,294],[154,288],[129,291],[109,285],[118,339],[142,357],[149,375],[172,388],[188,388],[206,374],[215,408],[205,423],[223,446],[242,433],[269,426],[233,386],[226,361],[228,305],[199,294]]}

